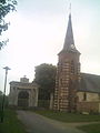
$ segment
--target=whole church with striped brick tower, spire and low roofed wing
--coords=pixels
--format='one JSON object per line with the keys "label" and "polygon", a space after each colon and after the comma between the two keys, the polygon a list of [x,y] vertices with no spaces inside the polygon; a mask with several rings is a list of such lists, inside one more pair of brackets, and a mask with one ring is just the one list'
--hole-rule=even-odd
{"label": "whole church with striped brick tower, spire and low roofed wing", "polygon": [[80,72],[80,52],[74,45],[71,13],[58,58],[53,110],[100,113],[100,75]]}

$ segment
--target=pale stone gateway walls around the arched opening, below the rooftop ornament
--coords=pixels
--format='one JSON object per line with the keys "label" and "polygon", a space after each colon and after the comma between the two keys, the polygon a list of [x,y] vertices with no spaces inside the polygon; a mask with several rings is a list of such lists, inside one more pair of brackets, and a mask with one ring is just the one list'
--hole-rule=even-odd
{"label": "pale stone gateway walls around the arched opening, below the rooftop ornament", "polygon": [[38,85],[14,81],[10,82],[9,105],[19,106],[22,101],[26,103],[26,99],[19,98],[19,94],[24,92],[29,94],[27,99],[28,106],[38,106]]}

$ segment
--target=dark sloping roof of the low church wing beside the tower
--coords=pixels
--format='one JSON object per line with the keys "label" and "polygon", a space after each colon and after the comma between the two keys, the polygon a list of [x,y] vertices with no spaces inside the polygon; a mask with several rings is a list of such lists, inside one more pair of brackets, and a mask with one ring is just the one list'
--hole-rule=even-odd
{"label": "dark sloping roof of the low church wing beside the tower", "polygon": [[81,73],[79,91],[100,93],[100,75]]}

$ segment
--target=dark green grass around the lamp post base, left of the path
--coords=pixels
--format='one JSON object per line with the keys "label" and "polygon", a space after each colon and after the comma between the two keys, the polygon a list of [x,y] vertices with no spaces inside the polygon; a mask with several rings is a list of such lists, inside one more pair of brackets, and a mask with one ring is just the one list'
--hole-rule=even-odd
{"label": "dark green grass around the lamp post base, left of the path", "polygon": [[24,126],[17,119],[17,114],[12,110],[4,111],[4,121],[0,123],[0,133],[27,133]]}

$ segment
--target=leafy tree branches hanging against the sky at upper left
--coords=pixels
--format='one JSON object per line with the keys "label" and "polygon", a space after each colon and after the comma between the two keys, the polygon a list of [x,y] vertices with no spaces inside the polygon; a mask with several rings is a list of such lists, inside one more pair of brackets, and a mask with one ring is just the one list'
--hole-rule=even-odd
{"label": "leafy tree branches hanging against the sky at upper left", "polygon": [[[2,31],[8,30],[9,23],[6,22],[4,18],[10,11],[14,11],[17,6],[16,0],[0,0],[0,35]],[[8,40],[0,39],[0,50],[6,45]]]}

